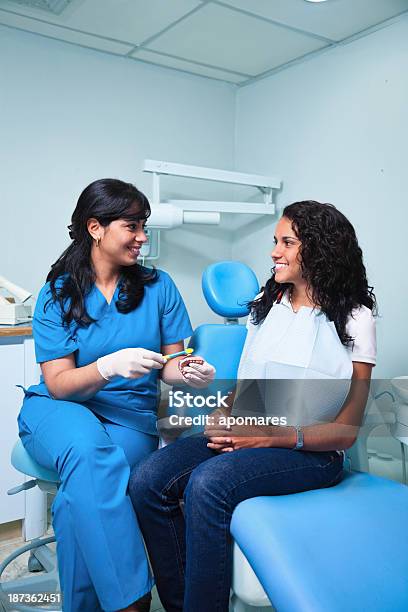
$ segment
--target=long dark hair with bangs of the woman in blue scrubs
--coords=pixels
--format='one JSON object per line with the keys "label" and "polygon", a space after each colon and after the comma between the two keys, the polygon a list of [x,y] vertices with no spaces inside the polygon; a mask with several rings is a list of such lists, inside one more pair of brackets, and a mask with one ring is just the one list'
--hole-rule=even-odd
{"label": "long dark hair with bangs of the woman in blue scrubs", "polygon": [[[138,211],[135,213],[135,204]],[[88,232],[88,219],[95,218],[106,227],[116,219],[134,223],[150,216],[150,204],[146,196],[131,183],[117,179],[94,181],[79,196],[68,226],[72,244],[52,264],[47,276],[50,281],[52,298],[58,301],[63,312],[63,323],[69,325],[76,321],[88,326],[94,321],[86,311],[85,296],[95,282],[95,270],[91,262],[92,236]],[[157,278],[155,270],[146,270],[139,264],[123,266],[119,299],[116,307],[119,312],[134,310],[141,302],[146,283]],[[58,282],[57,282],[58,281]]]}

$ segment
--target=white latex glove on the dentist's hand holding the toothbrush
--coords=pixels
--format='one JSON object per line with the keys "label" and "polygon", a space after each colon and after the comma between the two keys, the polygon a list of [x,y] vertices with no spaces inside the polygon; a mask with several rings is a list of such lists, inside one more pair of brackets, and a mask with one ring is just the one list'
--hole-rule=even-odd
{"label": "white latex glove on the dentist's hand holding the toothbrush", "polygon": [[141,378],[152,369],[161,370],[166,363],[163,355],[142,348],[130,348],[99,357],[96,367],[106,380],[114,376]]}

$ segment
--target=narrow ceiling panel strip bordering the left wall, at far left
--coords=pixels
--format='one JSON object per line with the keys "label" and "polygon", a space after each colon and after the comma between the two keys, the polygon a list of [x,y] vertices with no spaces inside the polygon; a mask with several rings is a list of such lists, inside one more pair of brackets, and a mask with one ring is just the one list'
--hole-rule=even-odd
{"label": "narrow ceiling panel strip bordering the left wall, at far left", "polygon": [[42,34],[43,36],[49,36],[57,40],[71,42],[76,45],[90,47],[91,49],[115,53],[117,55],[126,55],[133,48],[126,43],[106,40],[104,38],[92,36],[91,34],[67,30],[53,24],[31,19],[30,17],[16,16],[2,10],[0,10],[0,24],[13,26],[35,34]]}

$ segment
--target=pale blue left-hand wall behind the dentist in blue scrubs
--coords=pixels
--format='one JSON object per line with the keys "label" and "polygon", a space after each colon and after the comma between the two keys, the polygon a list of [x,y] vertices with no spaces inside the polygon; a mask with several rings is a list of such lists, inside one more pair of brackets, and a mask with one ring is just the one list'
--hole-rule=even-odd
{"label": "pale blue left-hand wall behind the dentist in blue scrubs", "polygon": [[[38,292],[68,244],[82,189],[113,176],[150,195],[144,158],[232,168],[235,88],[0,27],[0,274]],[[217,233],[218,232],[218,233]],[[219,230],[164,240],[194,324],[207,321],[200,272],[230,256]]]}

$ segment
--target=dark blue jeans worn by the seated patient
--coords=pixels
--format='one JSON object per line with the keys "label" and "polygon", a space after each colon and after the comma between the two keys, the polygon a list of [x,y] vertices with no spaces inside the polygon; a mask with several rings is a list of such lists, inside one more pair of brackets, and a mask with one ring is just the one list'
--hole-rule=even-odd
{"label": "dark blue jeans worn by the seated patient", "polygon": [[336,451],[219,454],[204,436],[152,453],[132,472],[129,493],[167,612],[227,612],[234,508],[250,497],[330,487],[342,467]]}

